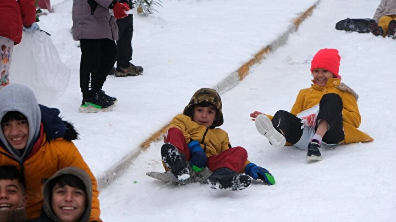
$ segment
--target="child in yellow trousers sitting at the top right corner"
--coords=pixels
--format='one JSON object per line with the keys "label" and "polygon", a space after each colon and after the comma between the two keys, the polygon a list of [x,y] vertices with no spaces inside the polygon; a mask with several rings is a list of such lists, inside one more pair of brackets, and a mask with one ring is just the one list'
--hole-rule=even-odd
{"label": "child in yellow trousers sitting at the top right corner", "polygon": [[373,19],[369,21],[369,30],[375,36],[389,36],[396,34],[396,0],[381,0]]}

